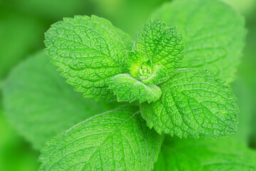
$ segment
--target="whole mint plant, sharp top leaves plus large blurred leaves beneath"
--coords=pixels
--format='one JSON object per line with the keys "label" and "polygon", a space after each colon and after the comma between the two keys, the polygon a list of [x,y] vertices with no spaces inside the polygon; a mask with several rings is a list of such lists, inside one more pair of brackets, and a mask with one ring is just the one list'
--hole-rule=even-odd
{"label": "whole mint plant, sharp top leaves plus large blurred leaves beneath", "polygon": [[[239,110],[227,82],[242,51],[243,20],[219,1],[182,2],[158,9],[134,40],[98,16],[64,18],[48,29],[45,51],[69,85],[41,52],[4,86],[5,108],[21,134],[38,149],[47,141],[39,170],[256,168],[256,155],[245,147],[227,143],[221,156],[216,150],[222,141],[203,139],[237,130]],[[13,91],[15,86],[22,91]],[[64,105],[54,103],[61,100]],[[113,108],[113,101],[122,103]],[[29,129],[36,126],[41,129]]]}

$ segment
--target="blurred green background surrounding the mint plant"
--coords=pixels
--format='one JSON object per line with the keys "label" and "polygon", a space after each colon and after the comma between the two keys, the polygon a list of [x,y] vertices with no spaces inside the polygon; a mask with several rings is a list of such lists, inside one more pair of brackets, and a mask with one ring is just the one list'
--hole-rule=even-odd
{"label": "blurred green background surrounding the mint plant", "polygon": [[[170,1],[170,0],[169,0]],[[245,16],[244,57],[232,88],[240,106],[237,140],[256,149],[256,0],[222,0]],[[11,68],[41,50],[43,33],[56,21],[74,15],[102,16],[135,36],[165,0],[0,0],[0,93]],[[0,97],[0,102],[2,95]],[[39,151],[17,135],[0,106],[0,170],[37,170]]]}

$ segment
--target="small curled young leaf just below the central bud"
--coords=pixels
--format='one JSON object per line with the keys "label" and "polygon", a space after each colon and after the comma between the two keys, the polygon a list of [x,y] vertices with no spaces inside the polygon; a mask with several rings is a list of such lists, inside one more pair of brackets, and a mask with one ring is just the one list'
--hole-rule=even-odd
{"label": "small curled young leaf just below the central bud", "polygon": [[150,103],[158,100],[162,94],[158,86],[145,85],[128,73],[121,73],[114,76],[108,84],[109,88],[117,95],[118,101],[133,102],[139,100],[140,103],[145,101]]}

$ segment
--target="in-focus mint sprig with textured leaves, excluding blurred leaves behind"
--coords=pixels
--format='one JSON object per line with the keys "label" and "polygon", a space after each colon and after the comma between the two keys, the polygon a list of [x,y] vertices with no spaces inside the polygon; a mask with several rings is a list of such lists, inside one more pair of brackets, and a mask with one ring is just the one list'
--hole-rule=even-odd
{"label": "in-focus mint sprig with textured leaves, excluding blurred leaves behind", "polygon": [[141,28],[131,52],[128,35],[98,16],[53,24],[45,43],[67,83],[85,98],[138,100],[140,110],[96,115],[51,139],[41,151],[41,170],[152,170],[162,133],[195,138],[235,133],[235,95],[208,71],[179,69],[182,36],[160,19]]}

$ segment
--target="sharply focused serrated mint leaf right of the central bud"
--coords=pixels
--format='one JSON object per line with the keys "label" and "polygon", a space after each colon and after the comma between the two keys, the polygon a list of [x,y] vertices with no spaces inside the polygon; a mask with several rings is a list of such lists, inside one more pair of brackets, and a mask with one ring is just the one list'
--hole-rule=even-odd
{"label": "sharply focused serrated mint leaf right of the central bud", "polygon": [[158,133],[215,138],[236,132],[235,95],[208,71],[180,69],[159,87],[160,100],[140,104],[143,118]]}

